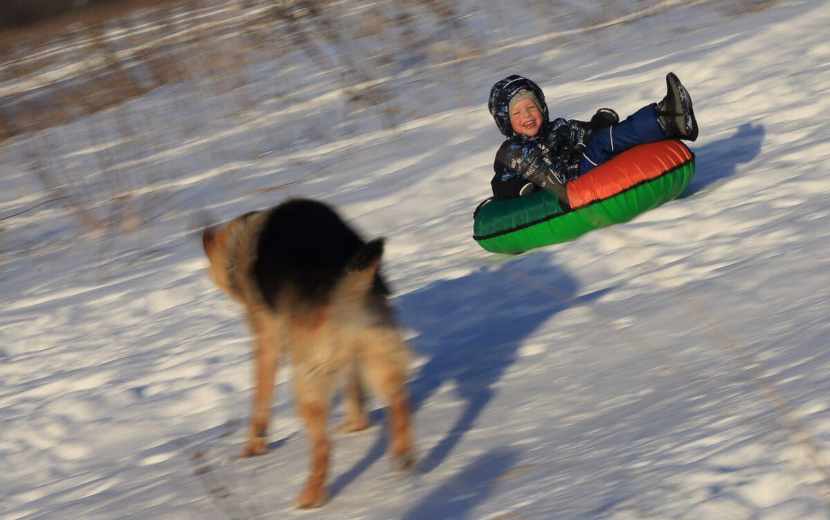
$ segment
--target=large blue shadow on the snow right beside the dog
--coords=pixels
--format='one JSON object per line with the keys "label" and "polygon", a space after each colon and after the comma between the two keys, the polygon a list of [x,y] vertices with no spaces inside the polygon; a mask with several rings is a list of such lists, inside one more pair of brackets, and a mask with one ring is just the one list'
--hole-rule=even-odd
{"label": "large blue shadow on the snow right beside the dog", "polygon": [[[530,262],[520,264],[525,265],[520,269],[527,271]],[[534,271],[532,276],[540,282],[555,286],[569,297],[576,293],[574,279],[555,267],[545,265]],[[580,299],[597,296],[593,293]],[[427,474],[447,460],[486,410],[500,378],[518,359],[522,340],[568,304],[490,268],[433,282],[394,303],[401,325],[419,333],[410,340],[416,357],[427,359],[416,369],[409,385],[415,431],[418,417],[428,416],[427,402],[439,389],[452,391],[462,407],[442,439],[426,453],[418,454],[417,473]],[[373,413],[373,420],[383,420],[378,411]],[[331,496],[383,457],[387,446],[383,430],[378,429],[376,435],[369,453],[330,485]]]}

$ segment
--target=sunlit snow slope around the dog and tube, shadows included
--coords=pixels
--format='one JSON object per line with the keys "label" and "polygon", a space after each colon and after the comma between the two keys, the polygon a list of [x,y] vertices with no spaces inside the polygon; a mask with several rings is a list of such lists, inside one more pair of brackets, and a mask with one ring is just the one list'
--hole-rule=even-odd
{"label": "sunlit snow slope around the dog and tube, shadows included", "polygon": [[[106,200],[89,128],[121,113],[142,128],[129,181],[152,218],[93,234],[46,204],[2,222],[0,519],[830,518],[828,7],[691,2],[562,41],[528,19],[526,41],[458,65],[442,110],[291,150],[277,142],[322,123],[306,105],[235,115],[198,85],[7,144],[0,217],[50,198],[13,166],[43,142]],[[491,84],[528,75],[553,113],[587,118],[659,99],[670,70],[701,126],[681,198],[515,257],[472,241],[500,143]],[[257,64],[251,92],[280,74]],[[374,403],[372,429],[334,436],[310,512],[291,507],[307,459],[286,371],[271,451],[233,459],[249,340],[197,233],[295,195],[388,238],[421,460],[394,476]]]}

